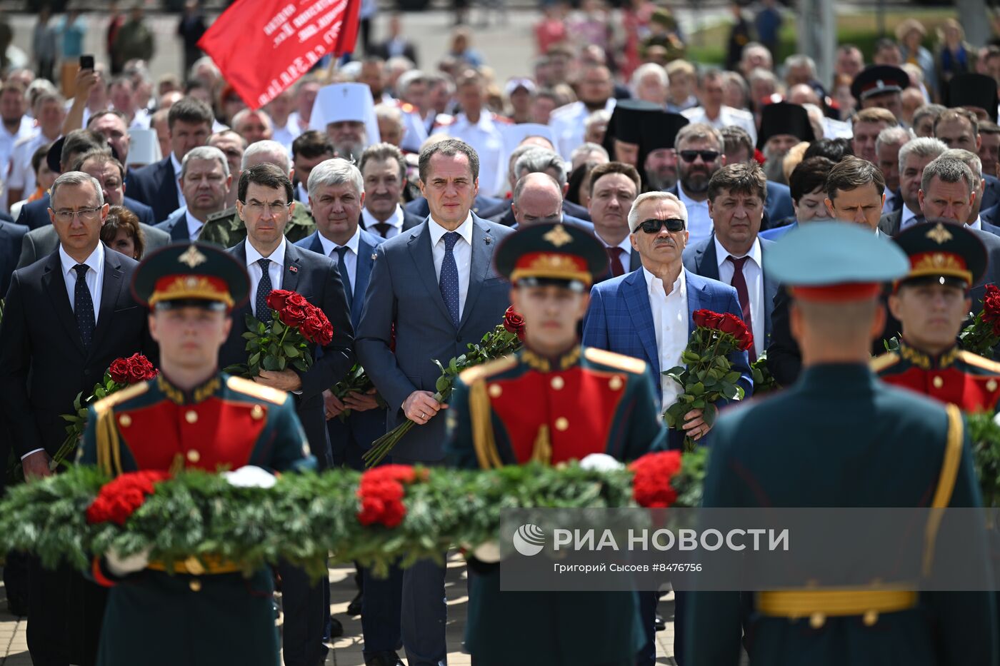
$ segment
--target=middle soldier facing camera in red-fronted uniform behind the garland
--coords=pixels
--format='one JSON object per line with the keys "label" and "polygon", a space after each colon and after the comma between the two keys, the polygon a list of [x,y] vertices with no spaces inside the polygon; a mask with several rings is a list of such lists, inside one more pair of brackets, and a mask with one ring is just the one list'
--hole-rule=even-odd
{"label": "middle soldier facing camera in red-fronted uniform behind the garland", "polygon": [[[524,317],[524,348],[459,376],[448,410],[452,464],[557,464],[592,453],[624,461],[665,448],[646,364],[577,341],[593,276],[607,271],[594,237],[533,225],[497,249],[496,265]],[[644,641],[634,592],[501,592],[495,565],[470,566],[479,574],[470,579],[465,645],[477,665],[634,663]]]}

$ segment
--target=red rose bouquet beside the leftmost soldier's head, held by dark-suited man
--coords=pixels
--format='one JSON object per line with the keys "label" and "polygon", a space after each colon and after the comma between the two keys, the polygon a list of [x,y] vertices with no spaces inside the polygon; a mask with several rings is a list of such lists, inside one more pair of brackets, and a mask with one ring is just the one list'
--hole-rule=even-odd
{"label": "red rose bouquet beside the leftmost soldier's head, held by dark-suited man", "polygon": [[275,289],[267,296],[271,322],[246,316],[249,354],[246,365],[231,365],[226,372],[256,377],[263,370],[285,370],[289,367],[305,372],[312,367],[310,344],[330,344],[333,326],[323,310],[311,304],[301,294]]}

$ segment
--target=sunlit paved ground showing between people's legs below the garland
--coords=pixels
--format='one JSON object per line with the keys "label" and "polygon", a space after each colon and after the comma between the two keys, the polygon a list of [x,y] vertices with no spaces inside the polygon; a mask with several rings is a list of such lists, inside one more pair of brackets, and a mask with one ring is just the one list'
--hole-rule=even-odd
{"label": "sunlit paved ground showing between people's legs below the garland", "polygon": [[[465,565],[461,558],[452,558],[449,562],[445,588],[448,596],[448,664],[467,666],[470,660],[469,655],[462,652],[462,634],[465,631],[468,597],[465,586]],[[327,666],[363,666],[365,663],[361,656],[361,618],[344,615],[354,593],[354,569],[346,567],[330,569],[331,610],[343,623],[344,636],[333,643],[333,649],[326,661]],[[670,597],[660,603],[660,610],[668,619],[672,606]],[[513,618],[513,621],[512,637],[517,634],[517,619]],[[27,622],[24,618],[17,618],[7,613],[6,594],[3,584],[0,583],[0,666],[31,666],[26,628]],[[581,627],[580,635],[581,640],[586,639],[586,627]],[[674,660],[668,657],[673,654],[673,623],[668,622],[666,631],[659,632],[656,638],[657,664],[673,664]]]}

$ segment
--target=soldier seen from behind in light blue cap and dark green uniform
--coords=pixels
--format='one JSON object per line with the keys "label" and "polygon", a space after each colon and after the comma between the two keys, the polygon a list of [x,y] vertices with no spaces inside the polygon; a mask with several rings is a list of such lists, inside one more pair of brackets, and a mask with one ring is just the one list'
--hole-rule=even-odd
{"label": "soldier seen from behind in light blue cap and dark green uniform", "polygon": [[[981,505],[958,408],[887,386],[868,367],[884,325],[881,283],[908,267],[891,241],[843,222],[811,222],[770,251],[768,270],[790,286],[803,373],[719,417],[706,507]],[[967,547],[985,579],[985,539]],[[741,634],[750,663],[768,666],[996,663],[991,592],[914,592],[893,581],[831,591],[809,573],[801,589],[744,595],[749,613],[739,592],[693,593],[684,666],[735,666]]]}

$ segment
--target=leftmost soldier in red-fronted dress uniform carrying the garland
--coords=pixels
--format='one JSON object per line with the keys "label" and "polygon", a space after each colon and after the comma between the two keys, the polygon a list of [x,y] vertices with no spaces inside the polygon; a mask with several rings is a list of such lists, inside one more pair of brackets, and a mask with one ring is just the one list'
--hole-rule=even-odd
{"label": "leftmost soldier in red-fronted dress uniform carrying the garland", "polygon": [[[111,476],[249,466],[264,481],[314,464],[287,393],[216,369],[249,292],[239,262],[211,245],[171,245],[143,260],[132,292],[150,308],[160,374],[90,408],[82,463]],[[111,588],[100,666],[279,663],[268,568],[245,578],[235,563],[192,557],[168,573],[148,554],[109,553],[91,573]]]}

